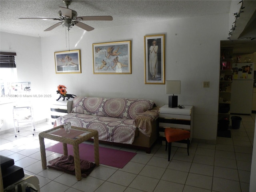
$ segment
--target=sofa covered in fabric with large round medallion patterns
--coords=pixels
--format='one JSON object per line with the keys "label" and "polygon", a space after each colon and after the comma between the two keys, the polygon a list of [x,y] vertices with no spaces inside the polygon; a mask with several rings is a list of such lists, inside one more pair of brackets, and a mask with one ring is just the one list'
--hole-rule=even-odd
{"label": "sofa covered in fabric with large round medallion patterns", "polygon": [[97,130],[99,140],[151,152],[158,138],[159,107],[152,100],[77,96],[68,102],[68,114],[54,123]]}

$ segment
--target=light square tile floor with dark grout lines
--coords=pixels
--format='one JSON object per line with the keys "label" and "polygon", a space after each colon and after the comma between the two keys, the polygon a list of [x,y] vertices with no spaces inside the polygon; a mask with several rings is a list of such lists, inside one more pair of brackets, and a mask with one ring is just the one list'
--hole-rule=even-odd
{"label": "light square tile floor with dark grout lines", "polygon": [[[114,147],[137,154],[122,169],[100,165],[81,181],[60,171],[42,170],[38,133],[51,128],[49,122],[36,124],[35,136],[30,127],[22,129],[17,138],[14,132],[2,134],[0,154],[36,175],[41,192],[248,192],[255,114],[241,117],[240,129],[231,130],[232,139],[218,137],[217,144],[192,141],[190,156],[186,148],[172,147],[170,162],[161,143],[151,154]],[[55,144],[45,142],[46,147]],[[60,154],[48,151],[46,156],[49,161]]]}

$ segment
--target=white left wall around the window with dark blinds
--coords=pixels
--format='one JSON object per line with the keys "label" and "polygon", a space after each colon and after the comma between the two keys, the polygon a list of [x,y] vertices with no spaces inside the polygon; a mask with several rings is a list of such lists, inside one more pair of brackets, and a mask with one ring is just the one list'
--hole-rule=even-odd
{"label": "white left wall around the window with dark blinds", "polygon": [[[16,52],[15,60],[17,66],[18,79],[14,82],[31,82],[31,94],[39,94],[44,92],[45,84],[42,76],[42,52],[40,38],[8,34],[1,32],[0,44],[2,52]],[[1,70],[1,69],[0,69]],[[9,100],[9,98],[2,98],[1,103]],[[34,106],[35,120],[42,120],[42,114],[45,114],[43,98],[30,98]],[[18,103],[27,102],[28,99],[19,97],[14,100]],[[0,104],[0,118],[4,119],[4,124],[0,124],[0,130],[13,128],[12,109],[7,110],[14,104]],[[44,118],[46,118],[44,116]]]}

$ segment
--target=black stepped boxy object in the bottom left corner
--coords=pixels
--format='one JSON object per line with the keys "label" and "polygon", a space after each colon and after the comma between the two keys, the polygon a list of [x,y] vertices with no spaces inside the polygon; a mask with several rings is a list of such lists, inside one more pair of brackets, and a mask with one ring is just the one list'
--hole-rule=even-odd
{"label": "black stepped boxy object in the bottom left corner", "polygon": [[4,188],[24,177],[23,168],[14,165],[13,159],[1,155],[0,161]]}

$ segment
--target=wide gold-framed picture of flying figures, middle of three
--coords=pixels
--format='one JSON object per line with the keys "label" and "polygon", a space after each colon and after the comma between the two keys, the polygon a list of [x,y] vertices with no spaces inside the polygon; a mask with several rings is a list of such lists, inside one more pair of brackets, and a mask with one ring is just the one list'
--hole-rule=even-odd
{"label": "wide gold-framed picture of flying figures, middle of three", "polygon": [[94,74],[131,74],[131,41],[94,43]]}

